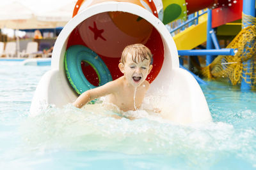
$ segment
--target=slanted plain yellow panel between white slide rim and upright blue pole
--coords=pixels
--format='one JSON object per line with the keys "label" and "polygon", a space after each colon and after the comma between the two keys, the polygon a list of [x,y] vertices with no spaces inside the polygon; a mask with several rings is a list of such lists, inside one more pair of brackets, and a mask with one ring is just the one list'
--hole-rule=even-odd
{"label": "slanted plain yellow panel between white slide rim and upright blue pole", "polygon": [[177,50],[191,50],[206,41],[207,20],[198,25],[192,25],[188,29],[173,37]]}

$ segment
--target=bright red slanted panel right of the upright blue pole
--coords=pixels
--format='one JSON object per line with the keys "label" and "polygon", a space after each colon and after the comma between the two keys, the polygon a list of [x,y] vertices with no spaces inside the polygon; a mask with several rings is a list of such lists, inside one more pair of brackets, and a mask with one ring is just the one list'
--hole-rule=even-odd
{"label": "bright red slanted panel right of the upright blue pole", "polygon": [[225,5],[227,7],[212,10],[212,28],[241,19],[243,0],[232,1],[230,4],[231,6]]}

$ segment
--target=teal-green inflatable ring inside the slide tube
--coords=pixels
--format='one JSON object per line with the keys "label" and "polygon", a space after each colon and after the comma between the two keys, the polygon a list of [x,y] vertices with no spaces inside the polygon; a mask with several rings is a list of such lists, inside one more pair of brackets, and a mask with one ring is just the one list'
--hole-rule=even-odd
{"label": "teal-green inflatable ring inside the slide tube", "polygon": [[99,86],[112,81],[108,67],[97,53],[83,45],[70,46],[65,53],[65,70],[67,78],[77,94],[95,88],[84,76],[81,62],[87,62],[93,67],[99,78]]}

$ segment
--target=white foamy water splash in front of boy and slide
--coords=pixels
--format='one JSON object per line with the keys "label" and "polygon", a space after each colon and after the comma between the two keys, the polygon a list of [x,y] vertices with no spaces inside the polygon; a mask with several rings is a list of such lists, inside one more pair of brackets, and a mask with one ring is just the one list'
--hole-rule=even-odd
{"label": "white foamy water splash in front of boy and slide", "polygon": [[216,153],[222,157],[236,154],[239,159],[248,153],[246,159],[256,160],[252,157],[255,145],[248,148],[255,144],[252,140],[255,129],[237,133],[233,125],[221,122],[185,127],[164,122],[159,117],[156,121],[148,115],[137,120],[118,120],[100,104],[87,105],[84,109],[67,105],[62,109],[48,108],[36,117],[29,117],[22,124],[26,145],[38,150],[65,148],[179,155],[191,164],[201,164],[202,159],[214,163]]}

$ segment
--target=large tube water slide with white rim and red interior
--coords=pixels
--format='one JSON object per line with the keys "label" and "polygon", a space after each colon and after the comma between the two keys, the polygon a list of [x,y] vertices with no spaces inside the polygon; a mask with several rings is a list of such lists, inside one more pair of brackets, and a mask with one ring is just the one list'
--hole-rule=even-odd
{"label": "large tube water slide with white rim and red interior", "polygon": [[[179,68],[175,42],[157,18],[160,11],[152,1],[94,0],[81,4],[77,2],[74,18],[56,40],[51,70],[36,87],[31,115],[49,104],[62,107],[75,101],[84,91],[79,87],[81,81],[90,89],[122,76],[118,70],[122,50],[143,43],[153,54],[147,95],[164,92],[167,107],[163,108],[163,117],[177,124],[211,121],[204,94],[195,78]],[[83,10],[78,10],[80,6]],[[77,74],[72,75],[72,69]]]}

